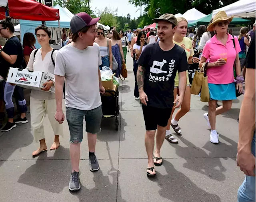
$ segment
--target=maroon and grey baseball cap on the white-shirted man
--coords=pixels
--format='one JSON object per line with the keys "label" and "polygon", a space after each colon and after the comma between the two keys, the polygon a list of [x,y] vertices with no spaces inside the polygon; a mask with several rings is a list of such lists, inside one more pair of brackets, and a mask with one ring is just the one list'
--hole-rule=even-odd
{"label": "maroon and grey baseball cap on the white-shirted man", "polygon": [[89,27],[90,25],[95,25],[99,22],[99,18],[92,18],[86,12],[81,12],[73,16],[70,21],[70,29],[72,33],[76,33],[83,29],[84,27]]}

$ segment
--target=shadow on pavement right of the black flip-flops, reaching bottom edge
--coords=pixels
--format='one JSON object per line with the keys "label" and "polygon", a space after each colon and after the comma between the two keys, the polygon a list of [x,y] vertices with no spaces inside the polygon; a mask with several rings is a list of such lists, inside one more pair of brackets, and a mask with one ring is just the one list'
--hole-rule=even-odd
{"label": "shadow on pavement right of the black flip-flops, reaching bottom edge", "polygon": [[175,170],[170,162],[164,160],[163,166],[167,174],[157,173],[156,180],[161,188],[160,196],[172,202],[221,202],[219,196],[210,194],[196,186],[186,175]]}

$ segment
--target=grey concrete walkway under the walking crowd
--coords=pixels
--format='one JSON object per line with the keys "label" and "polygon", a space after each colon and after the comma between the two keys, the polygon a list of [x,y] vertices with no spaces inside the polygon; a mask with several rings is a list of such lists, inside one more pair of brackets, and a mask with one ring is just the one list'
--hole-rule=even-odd
{"label": "grey concrete walkway under the walking crowd", "polygon": [[[132,59],[127,54],[128,79],[120,86],[120,127],[114,120],[102,120],[96,155],[101,169],[89,171],[87,138],[81,144],[80,192],[70,193],[69,130],[60,148],[32,158],[37,149],[30,124],[18,125],[0,137],[0,201],[6,202],[235,202],[244,175],[236,167],[238,113],[242,97],[230,112],[217,118],[220,143],[210,143],[203,114],[207,104],[191,98],[191,110],[180,121],[179,144],[164,141],[163,165],[157,177],[146,177],[142,108],[134,100]],[[221,104],[221,103],[219,103]],[[30,115],[28,113],[28,119]],[[54,139],[49,120],[44,120],[46,143]]]}

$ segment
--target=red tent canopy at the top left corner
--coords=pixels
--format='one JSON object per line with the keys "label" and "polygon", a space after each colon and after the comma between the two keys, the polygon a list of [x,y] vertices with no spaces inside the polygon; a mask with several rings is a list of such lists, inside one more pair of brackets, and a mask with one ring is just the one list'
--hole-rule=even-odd
{"label": "red tent canopy at the top left corner", "polygon": [[[20,20],[60,20],[59,10],[34,0],[8,0],[9,16]],[[5,18],[5,7],[0,7],[0,19]]]}

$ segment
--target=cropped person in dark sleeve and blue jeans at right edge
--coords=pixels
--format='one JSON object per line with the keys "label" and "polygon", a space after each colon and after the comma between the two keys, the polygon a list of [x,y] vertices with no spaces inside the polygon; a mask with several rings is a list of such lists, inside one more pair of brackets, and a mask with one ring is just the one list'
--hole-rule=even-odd
{"label": "cropped person in dark sleeve and blue jeans at right edge", "polygon": [[246,56],[245,94],[239,116],[237,165],[246,175],[238,189],[238,202],[256,201],[256,39]]}

